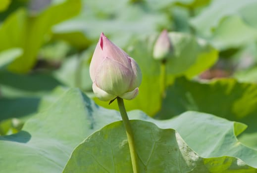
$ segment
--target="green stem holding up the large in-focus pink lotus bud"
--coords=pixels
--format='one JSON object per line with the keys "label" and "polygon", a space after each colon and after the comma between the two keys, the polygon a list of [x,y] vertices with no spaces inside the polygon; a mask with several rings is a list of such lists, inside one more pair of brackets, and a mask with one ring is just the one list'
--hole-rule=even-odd
{"label": "green stem holding up the large in-focus pink lotus bud", "polygon": [[123,99],[120,97],[117,97],[117,101],[118,101],[120,115],[123,120],[123,124],[125,126],[126,133],[127,133],[133,173],[139,173],[138,162],[137,162],[138,156],[137,156],[136,147],[135,147],[134,135],[133,135],[130,123],[129,123],[128,115],[127,115],[127,112],[126,112],[126,109],[124,106]]}

